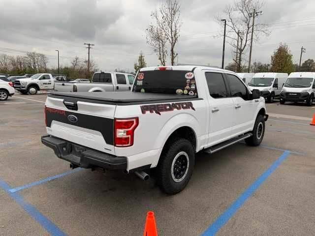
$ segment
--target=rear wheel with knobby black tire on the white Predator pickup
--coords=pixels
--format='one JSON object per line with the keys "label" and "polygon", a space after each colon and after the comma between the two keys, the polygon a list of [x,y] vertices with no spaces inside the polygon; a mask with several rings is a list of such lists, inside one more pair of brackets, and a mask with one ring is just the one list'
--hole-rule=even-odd
{"label": "rear wheel with knobby black tire on the white Predator pickup", "polygon": [[160,189],[167,194],[182,191],[192,175],[194,160],[195,152],[187,139],[179,138],[168,142],[156,168]]}

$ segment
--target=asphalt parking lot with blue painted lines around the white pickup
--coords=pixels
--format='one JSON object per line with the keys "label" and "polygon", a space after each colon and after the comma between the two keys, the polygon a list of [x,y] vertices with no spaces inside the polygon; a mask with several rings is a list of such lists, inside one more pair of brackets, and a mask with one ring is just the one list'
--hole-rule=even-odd
{"label": "asphalt parking lot with blue painted lines around the white pickup", "polygon": [[0,235],[140,236],[146,212],[159,236],[315,234],[315,104],[267,104],[260,147],[200,153],[180,194],[154,179],[69,170],[42,145],[45,94],[0,103]]}

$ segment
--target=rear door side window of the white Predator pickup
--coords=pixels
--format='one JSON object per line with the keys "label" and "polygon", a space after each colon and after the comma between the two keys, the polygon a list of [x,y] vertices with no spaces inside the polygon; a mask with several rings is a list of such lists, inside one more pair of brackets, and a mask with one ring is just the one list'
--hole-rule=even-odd
{"label": "rear door side window of the white Predator pickup", "polygon": [[221,73],[206,72],[206,80],[210,95],[213,98],[223,98],[227,96],[223,75]]}

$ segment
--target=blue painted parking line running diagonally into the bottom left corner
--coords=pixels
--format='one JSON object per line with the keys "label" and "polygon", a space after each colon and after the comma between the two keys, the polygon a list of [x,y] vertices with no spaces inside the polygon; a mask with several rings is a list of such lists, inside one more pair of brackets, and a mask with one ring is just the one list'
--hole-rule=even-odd
{"label": "blue painted parking line running diagonally into the bottom left corner", "polygon": [[52,236],[66,236],[61,229],[59,229],[53,222],[41,214],[35,207],[24,201],[23,197],[15,192],[10,192],[11,186],[0,179],[0,188],[7,192],[10,197],[17,202],[29,215],[32,216],[47,232]]}

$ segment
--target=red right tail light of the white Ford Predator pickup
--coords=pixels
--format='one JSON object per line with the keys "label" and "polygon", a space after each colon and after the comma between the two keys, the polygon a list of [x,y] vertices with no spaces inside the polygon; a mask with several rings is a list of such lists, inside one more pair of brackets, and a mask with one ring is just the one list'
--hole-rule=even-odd
{"label": "red right tail light of the white Ford Predator pickup", "polygon": [[130,147],[133,145],[134,130],[139,124],[139,119],[135,118],[115,118],[114,140],[116,147]]}

